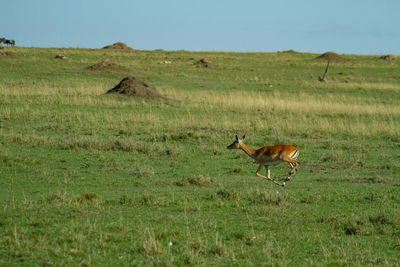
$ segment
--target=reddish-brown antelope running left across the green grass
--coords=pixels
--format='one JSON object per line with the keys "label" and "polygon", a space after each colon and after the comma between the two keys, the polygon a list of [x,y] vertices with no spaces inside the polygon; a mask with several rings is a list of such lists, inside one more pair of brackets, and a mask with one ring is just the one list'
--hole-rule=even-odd
{"label": "reddish-brown antelope running left across the green grass", "polygon": [[[265,146],[254,150],[243,143],[245,135],[243,135],[242,139],[239,139],[236,135],[236,140],[228,146],[229,149],[241,149],[243,150],[250,158],[257,161],[258,169],[256,171],[256,175],[260,178],[269,180],[276,185],[285,186],[285,182],[290,180],[290,177],[298,170],[300,162],[296,161],[297,157],[300,155],[300,150],[297,147],[290,145],[277,145],[277,146]],[[284,180],[282,184],[278,183],[274,179],[271,178],[270,175],[270,166],[276,165],[282,162],[289,163],[292,168],[289,172],[288,177]],[[267,170],[267,176],[261,175],[259,172],[265,166]]]}

